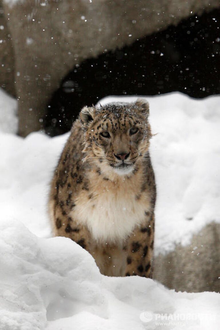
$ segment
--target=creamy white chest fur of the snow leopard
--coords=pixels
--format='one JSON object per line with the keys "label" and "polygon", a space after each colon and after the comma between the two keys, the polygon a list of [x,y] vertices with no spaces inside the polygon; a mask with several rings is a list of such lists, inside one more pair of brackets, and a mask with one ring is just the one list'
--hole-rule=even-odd
{"label": "creamy white chest fur of the snow leopard", "polygon": [[110,183],[98,185],[97,182],[92,190],[91,199],[88,199],[88,192],[81,191],[71,216],[87,225],[97,241],[122,242],[135,226],[146,221],[145,211],[150,209],[150,197],[145,195],[137,199],[137,186],[122,183],[115,187]]}

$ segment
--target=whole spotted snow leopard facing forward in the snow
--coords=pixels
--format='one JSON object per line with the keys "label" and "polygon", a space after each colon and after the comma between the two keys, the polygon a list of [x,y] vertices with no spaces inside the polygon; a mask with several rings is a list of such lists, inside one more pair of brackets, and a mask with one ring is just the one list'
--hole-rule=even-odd
{"label": "whole spotted snow leopard facing forward in the snow", "polygon": [[87,249],[102,274],[151,275],[156,188],[149,105],[84,107],[51,183],[54,233]]}

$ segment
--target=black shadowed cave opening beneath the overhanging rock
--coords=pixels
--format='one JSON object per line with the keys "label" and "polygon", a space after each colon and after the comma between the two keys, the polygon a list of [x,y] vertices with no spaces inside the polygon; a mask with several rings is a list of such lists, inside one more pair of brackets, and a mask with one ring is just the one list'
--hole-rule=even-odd
{"label": "black shadowed cave opening beneath the overhanging rock", "polygon": [[85,60],[53,94],[45,118],[47,134],[69,131],[84,105],[106,95],[219,94],[219,20],[219,9],[194,15],[131,46]]}

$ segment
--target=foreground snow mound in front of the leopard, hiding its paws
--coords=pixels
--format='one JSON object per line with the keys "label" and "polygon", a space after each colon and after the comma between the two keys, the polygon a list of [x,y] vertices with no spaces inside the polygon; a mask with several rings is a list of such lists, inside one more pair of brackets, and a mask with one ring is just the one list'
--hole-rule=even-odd
{"label": "foreground snow mound in front of the leopard, hiding its paws", "polygon": [[219,329],[219,294],[105,277],[70,239],[37,238],[19,221],[1,221],[0,249],[0,329]]}

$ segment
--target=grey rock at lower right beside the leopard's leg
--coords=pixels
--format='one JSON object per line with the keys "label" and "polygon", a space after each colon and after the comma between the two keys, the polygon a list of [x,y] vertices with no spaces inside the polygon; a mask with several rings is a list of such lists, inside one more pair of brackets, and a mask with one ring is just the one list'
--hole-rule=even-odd
{"label": "grey rock at lower right beside the leopard's leg", "polygon": [[220,224],[206,225],[189,246],[158,255],[153,277],[176,291],[220,292]]}

